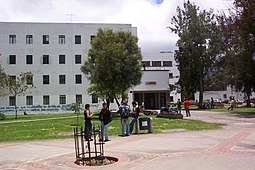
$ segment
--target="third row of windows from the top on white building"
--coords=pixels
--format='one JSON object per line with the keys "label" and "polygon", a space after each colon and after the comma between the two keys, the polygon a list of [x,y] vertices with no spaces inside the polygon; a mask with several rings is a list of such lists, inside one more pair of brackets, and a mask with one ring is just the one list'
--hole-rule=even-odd
{"label": "third row of windows from the top on white building", "polygon": [[[16,76],[10,75],[12,80],[16,80]],[[33,76],[26,77],[27,85],[31,85],[33,83]],[[43,75],[43,84],[50,84],[50,75]],[[66,84],[66,75],[59,75],[59,84]],[[75,75],[75,84],[82,84],[82,75]]]}

